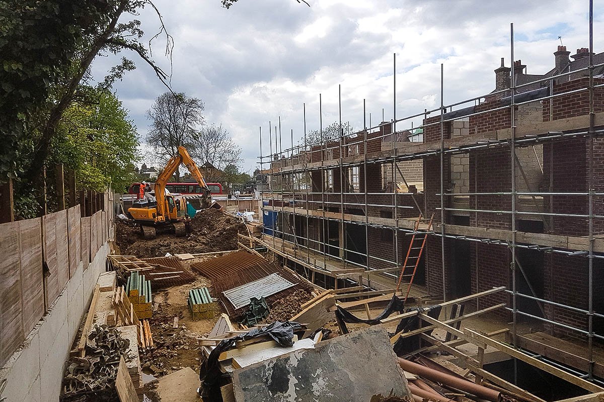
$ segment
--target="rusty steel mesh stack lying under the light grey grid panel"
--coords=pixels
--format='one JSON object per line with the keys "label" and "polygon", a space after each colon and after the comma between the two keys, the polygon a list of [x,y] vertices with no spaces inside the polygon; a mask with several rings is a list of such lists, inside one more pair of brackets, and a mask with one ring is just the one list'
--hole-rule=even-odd
{"label": "rusty steel mesh stack lying under the light grey grid panel", "polygon": [[272,306],[284,297],[294,294],[298,289],[304,289],[308,292],[312,291],[309,285],[301,283],[299,278],[295,277],[291,272],[286,271],[276,263],[268,262],[262,257],[248,253],[247,251],[235,251],[234,253],[226,254],[226,256],[194,263],[191,265],[191,268],[199,274],[204,275],[204,277],[210,278],[215,296],[225,306],[228,315],[234,319],[238,319],[247,307],[235,309],[233,304],[222,293],[233,289],[233,287],[259,280],[271,274],[278,274],[291,283],[295,283],[294,286],[284,291],[266,297],[269,306]]}

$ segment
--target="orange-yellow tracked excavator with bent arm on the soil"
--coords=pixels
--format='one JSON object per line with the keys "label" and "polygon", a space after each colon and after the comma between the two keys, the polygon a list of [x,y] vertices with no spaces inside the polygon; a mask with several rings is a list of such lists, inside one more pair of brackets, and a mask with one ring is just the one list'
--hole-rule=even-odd
{"label": "orange-yellow tracked excavator with bent arm on the soil", "polygon": [[201,208],[207,209],[212,205],[210,189],[193,159],[184,146],[178,147],[178,152],[165,164],[155,181],[155,200],[143,199],[134,203],[128,209],[128,215],[140,225],[144,239],[155,239],[156,232],[173,231],[176,236],[185,236],[187,233],[187,200],[183,195],[170,194],[165,190],[165,185],[170,180],[178,166],[185,165],[202,188]]}

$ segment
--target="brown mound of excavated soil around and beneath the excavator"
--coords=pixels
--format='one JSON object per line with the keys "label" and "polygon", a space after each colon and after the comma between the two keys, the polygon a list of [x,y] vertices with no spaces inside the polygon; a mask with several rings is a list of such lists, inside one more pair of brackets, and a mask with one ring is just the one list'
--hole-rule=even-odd
{"label": "brown mound of excavated soil around and beneath the excavator", "polygon": [[144,240],[137,226],[117,222],[115,241],[120,253],[137,257],[163,257],[166,253],[210,253],[237,248],[237,233],[247,234],[245,224],[215,209],[204,210],[190,222],[191,233],[176,237],[161,233],[153,240]]}

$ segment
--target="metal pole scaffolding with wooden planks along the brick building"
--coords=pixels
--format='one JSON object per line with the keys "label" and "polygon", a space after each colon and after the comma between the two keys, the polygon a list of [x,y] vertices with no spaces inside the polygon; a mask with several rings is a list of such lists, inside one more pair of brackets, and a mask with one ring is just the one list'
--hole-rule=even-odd
{"label": "metal pole scaffolding with wooden planks along the brick building", "polygon": [[[590,381],[604,384],[597,378],[594,378],[594,341],[604,341],[604,333],[597,333],[594,328],[594,319],[604,319],[604,312],[596,311],[594,296],[599,295],[594,292],[594,262],[604,259],[604,239],[594,234],[594,221],[604,219],[604,215],[598,215],[594,212],[594,206],[600,200],[604,200],[604,192],[597,192],[594,188],[594,174],[596,169],[594,163],[594,143],[600,137],[604,136],[604,116],[603,113],[596,113],[594,108],[595,92],[604,87],[603,83],[596,83],[594,79],[594,70],[602,68],[604,64],[595,64],[593,59],[593,1],[590,1],[589,14],[589,63],[585,68],[574,71],[562,72],[561,74],[544,77],[529,83],[516,83],[515,73],[516,65],[514,61],[514,30],[513,24],[510,24],[510,59],[512,68],[510,75],[510,86],[506,89],[496,90],[486,95],[476,96],[463,101],[445,104],[444,85],[445,69],[440,65],[440,106],[432,110],[423,110],[411,116],[396,118],[396,54],[393,57],[393,119],[390,122],[371,126],[367,125],[365,117],[365,99],[363,99],[363,129],[353,134],[344,135],[342,133],[342,108],[341,108],[341,87],[338,87],[338,125],[340,136],[337,139],[324,139],[323,131],[323,99],[319,94],[319,134],[320,140],[315,143],[307,141],[306,126],[306,103],[303,104],[304,119],[304,142],[300,145],[294,145],[294,134],[291,130],[291,148],[282,149],[281,140],[281,121],[279,118],[278,126],[272,127],[269,122],[269,154],[263,155],[262,149],[262,127],[260,128],[260,170],[269,176],[269,190],[263,190],[261,204],[262,213],[279,213],[277,218],[273,219],[268,226],[265,224],[266,234],[272,241],[272,249],[280,248],[282,255],[292,254],[298,261],[305,262],[304,269],[309,269],[309,276],[314,279],[314,272],[320,272],[326,275],[332,275],[335,278],[337,289],[338,278],[352,278],[355,275],[359,279],[353,284],[357,288],[370,288],[371,275],[384,275],[392,280],[399,277],[402,268],[399,262],[399,237],[414,236],[423,233],[428,236],[440,238],[440,247],[442,256],[442,295],[443,301],[448,300],[446,289],[448,282],[446,277],[447,262],[445,256],[446,240],[464,240],[473,243],[486,243],[498,245],[509,249],[510,257],[510,276],[511,281],[506,291],[510,296],[510,304],[504,307],[512,317],[512,345],[518,347],[518,319],[524,317],[532,319],[543,324],[553,325],[563,328],[577,336],[584,336],[587,340],[588,354],[585,359],[588,361],[588,367],[584,372],[576,372],[577,375]],[[555,93],[554,83],[571,78],[577,74],[585,75],[588,78],[586,86]],[[541,87],[539,90],[530,90],[535,84]],[[544,91],[542,89],[547,89]],[[568,95],[588,94],[588,113],[586,116],[577,116],[571,122],[562,122],[553,119],[554,100]],[[480,105],[481,100],[497,97],[504,99],[507,104],[499,107],[488,108],[486,110],[475,110],[475,106]],[[539,102],[542,105],[549,105],[550,119],[544,124],[533,127],[518,127],[518,116],[516,111],[522,105],[535,104]],[[470,104],[471,106],[467,106]],[[474,104],[474,107],[472,107]],[[455,109],[455,110],[454,110]],[[453,139],[445,134],[445,127],[461,118],[472,118],[474,116],[484,116],[486,113],[494,111],[509,111],[510,124],[507,130],[493,130],[492,135],[469,134],[467,136]],[[438,119],[430,119],[429,116],[437,114]],[[586,117],[586,119],[584,119]],[[397,144],[397,133],[404,133],[405,130],[413,130],[413,123],[417,119],[423,119],[423,142],[408,142],[405,146]],[[383,120],[383,119],[382,119]],[[396,126],[410,125],[405,130],[397,131]],[[390,128],[386,132],[385,127]],[[273,130],[274,128],[274,134]],[[426,130],[436,128],[440,133],[440,138],[435,141],[426,141]],[[552,128],[555,128],[552,129]],[[274,135],[274,149],[273,149]],[[415,135],[415,134],[413,134]],[[379,141],[383,146],[386,138],[392,138],[392,149],[380,149],[375,152],[368,152],[368,145],[373,141]],[[411,137],[411,136],[410,136]],[[550,158],[550,188],[549,191],[518,190],[518,175],[528,180],[525,172],[522,171],[522,165],[519,163],[518,150],[529,146],[559,143],[562,140],[586,140],[586,191],[554,191],[553,186],[553,160]],[[448,184],[445,181],[445,171],[450,168],[450,161],[446,157],[450,155],[470,155],[473,152],[487,149],[508,149],[509,150],[509,191],[498,192],[451,192],[448,190]],[[550,148],[551,151],[552,148]],[[361,151],[362,150],[362,151]],[[535,151],[535,148],[533,148]],[[544,149],[545,151],[545,149]],[[317,158],[320,155],[320,159]],[[333,155],[338,155],[337,158]],[[399,163],[411,160],[425,160],[429,157],[438,157],[440,165],[440,183],[439,192],[431,193],[431,196],[437,196],[439,206],[434,209],[440,215],[440,222],[435,222],[434,230],[425,230],[425,228],[415,227],[414,222],[418,216],[426,216],[428,211],[426,190],[424,187],[423,205],[418,201],[419,195],[414,192],[397,191],[396,183],[402,181],[407,189],[411,188],[405,179],[405,175],[399,168]],[[535,151],[535,157],[539,157]],[[319,159],[319,160],[316,160]],[[449,163],[449,166],[448,166]],[[265,166],[268,168],[265,169]],[[392,177],[391,190],[384,192],[371,192],[368,188],[368,168],[371,166],[381,166],[390,169]],[[539,162],[543,169],[542,162]],[[349,174],[350,170],[358,169],[358,175],[353,177]],[[425,169],[425,166],[424,166]],[[362,174],[361,174],[362,172]],[[424,170],[424,174],[425,174]],[[334,192],[336,173],[339,174],[339,192]],[[546,172],[543,172],[545,175]],[[424,177],[424,183],[425,183]],[[361,186],[362,184],[362,186]],[[528,184],[527,184],[528,187]],[[474,185],[474,189],[477,186]],[[320,191],[318,191],[320,189]],[[352,191],[350,191],[352,189]],[[467,207],[451,206],[449,202],[454,197],[464,196],[468,199],[474,199],[474,207],[468,202]],[[509,209],[496,208],[478,208],[478,199],[480,197],[497,196],[498,199],[507,200]],[[580,203],[584,199],[584,207],[587,213],[565,213],[554,212],[553,206],[559,199],[576,199]],[[388,199],[388,202],[384,201]],[[530,199],[538,207],[535,210],[521,210],[519,205],[521,199]],[[377,201],[374,201],[377,200]],[[381,201],[380,201],[381,200]],[[538,201],[544,203],[541,207]],[[350,201],[350,202],[349,202]],[[545,202],[547,207],[545,208]],[[503,204],[503,202],[501,203]],[[361,210],[357,213],[354,210]],[[388,210],[388,216],[370,216],[371,209]],[[539,210],[541,209],[541,210]],[[345,210],[349,210],[345,213]],[[478,214],[493,216],[506,216],[511,221],[511,228],[485,228],[489,230],[477,230],[476,227],[455,225],[449,222],[449,216],[455,213],[464,213],[468,216],[474,214],[475,221],[478,222]],[[278,218],[280,216],[280,219]],[[286,222],[286,216],[288,216]],[[290,224],[289,217],[293,216]],[[586,236],[575,235],[555,235],[555,234],[536,234],[519,231],[518,220],[524,217],[539,217],[543,222],[553,222],[554,218],[573,218],[584,219],[586,221]],[[320,222],[317,239],[311,239],[309,236],[310,219]],[[304,225],[301,225],[304,222]],[[330,222],[333,222],[330,224]],[[334,224],[338,227],[339,242],[338,245],[330,243],[330,236],[333,236]],[[365,228],[365,250],[359,250],[354,240],[347,236],[349,225],[352,227]],[[306,228],[306,229],[304,229]],[[392,231],[393,233],[393,254],[392,256],[371,255],[368,250],[370,239],[368,237],[369,228],[377,228]],[[306,232],[304,231],[306,230]],[[330,233],[332,231],[332,233]],[[561,240],[562,239],[562,240]],[[565,242],[565,243],[564,243]],[[587,308],[571,306],[566,303],[559,303],[554,300],[548,300],[546,297],[538,297],[535,290],[530,286],[527,274],[519,263],[517,256],[518,250],[533,250],[544,254],[556,254],[568,257],[583,257],[587,260]],[[311,255],[312,254],[312,255]],[[321,256],[323,262],[317,261],[316,257]],[[328,269],[328,260],[338,261],[341,268]],[[389,265],[388,268],[376,268],[376,265]],[[333,268],[333,267],[332,267]],[[359,270],[361,269],[361,270]],[[348,271],[347,271],[348,270]],[[483,268],[488,271],[488,268]],[[344,272],[347,271],[347,272]],[[477,278],[478,283],[478,265]],[[333,273],[335,272],[335,274]],[[603,272],[597,272],[602,275]],[[361,274],[361,275],[359,275]],[[363,280],[363,275],[367,279]],[[519,278],[522,275],[523,278]],[[373,276],[375,277],[375,276]],[[519,289],[519,281],[524,280],[528,283],[528,291]],[[551,278],[552,281],[555,278]],[[508,285],[508,284],[506,284]],[[353,287],[351,288],[353,289]],[[599,296],[600,299],[602,296]],[[553,299],[553,297],[551,297]],[[544,306],[551,308],[557,307],[564,309],[568,313],[577,314],[586,317],[585,327],[570,325],[565,322],[548,319],[545,313],[543,316],[535,315],[523,311],[519,307],[519,300],[531,300],[538,303],[540,309]],[[553,316],[557,316],[552,313]],[[516,368],[515,368],[516,369]]]}

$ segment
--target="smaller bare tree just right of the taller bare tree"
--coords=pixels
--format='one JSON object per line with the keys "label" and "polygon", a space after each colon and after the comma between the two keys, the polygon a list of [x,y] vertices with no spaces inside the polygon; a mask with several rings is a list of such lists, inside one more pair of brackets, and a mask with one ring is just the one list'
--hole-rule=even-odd
{"label": "smaller bare tree just right of the taller bare tree", "polygon": [[205,169],[204,175],[209,181],[217,180],[219,171],[227,165],[239,166],[243,162],[241,147],[234,142],[228,131],[221,125],[212,124],[202,127],[193,146],[193,156],[201,160],[202,165],[216,168]]}

